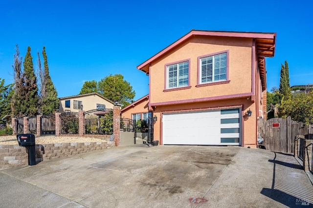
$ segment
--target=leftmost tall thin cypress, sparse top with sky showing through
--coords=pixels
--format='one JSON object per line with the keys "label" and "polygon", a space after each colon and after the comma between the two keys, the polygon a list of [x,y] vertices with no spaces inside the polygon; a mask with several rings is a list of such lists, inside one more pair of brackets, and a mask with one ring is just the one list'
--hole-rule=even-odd
{"label": "leftmost tall thin cypress, sparse top with sky showing through", "polygon": [[23,105],[25,97],[24,90],[24,73],[22,72],[22,57],[20,57],[19,45],[16,45],[16,53],[14,54],[13,77],[14,77],[14,93],[11,101],[11,112],[13,117],[22,117],[26,112]]}

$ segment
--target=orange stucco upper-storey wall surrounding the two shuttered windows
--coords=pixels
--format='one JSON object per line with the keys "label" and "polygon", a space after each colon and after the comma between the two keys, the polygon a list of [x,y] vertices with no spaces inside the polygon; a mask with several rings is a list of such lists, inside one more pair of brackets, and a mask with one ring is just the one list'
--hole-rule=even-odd
{"label": "orange stucco upper-storey wall surrounding the two shuttered windows", "polygon": [[[196,37],[157,61],[150,68],[150,103],[199,99],[213,96],[251,92],[252,39],[225,37]],[[229,51],[229,83],[196,87],[198,83],[198,57]],[[190,60],[190,88],[175,91],[164,90],[165,65]]]}

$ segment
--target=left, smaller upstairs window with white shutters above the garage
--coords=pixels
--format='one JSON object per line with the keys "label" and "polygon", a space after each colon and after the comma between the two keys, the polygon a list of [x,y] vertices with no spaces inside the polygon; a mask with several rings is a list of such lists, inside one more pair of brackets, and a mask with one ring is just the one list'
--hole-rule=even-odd
{"label": "left, smaller upstairs window with white shutters above the garage", "polygon": [[167,66],[167,89],[188,86],[189,62],[175,63]]}

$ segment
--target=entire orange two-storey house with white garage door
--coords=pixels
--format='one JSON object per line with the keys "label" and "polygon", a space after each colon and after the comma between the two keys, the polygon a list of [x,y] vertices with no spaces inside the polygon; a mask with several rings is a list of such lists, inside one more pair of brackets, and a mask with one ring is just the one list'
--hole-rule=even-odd
{"label": "entire orange two-storey house with white garage door", "polygon": [[256,147],[275,43],[276,33],[192,30],[137,66],[149,75],[149,95],[122,115],[152,112],[161,145]]}

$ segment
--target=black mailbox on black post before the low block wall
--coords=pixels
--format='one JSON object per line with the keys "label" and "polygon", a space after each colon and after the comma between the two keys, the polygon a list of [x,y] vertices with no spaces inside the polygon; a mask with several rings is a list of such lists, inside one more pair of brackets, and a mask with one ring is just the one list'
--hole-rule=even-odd
{"label": "black mailbox on black post before the low block wall", "polygon": [[19,146],[24,146],[28,153],[28,165],[36,165],[36,148],[34,134],[18,134],[16,135]]}

